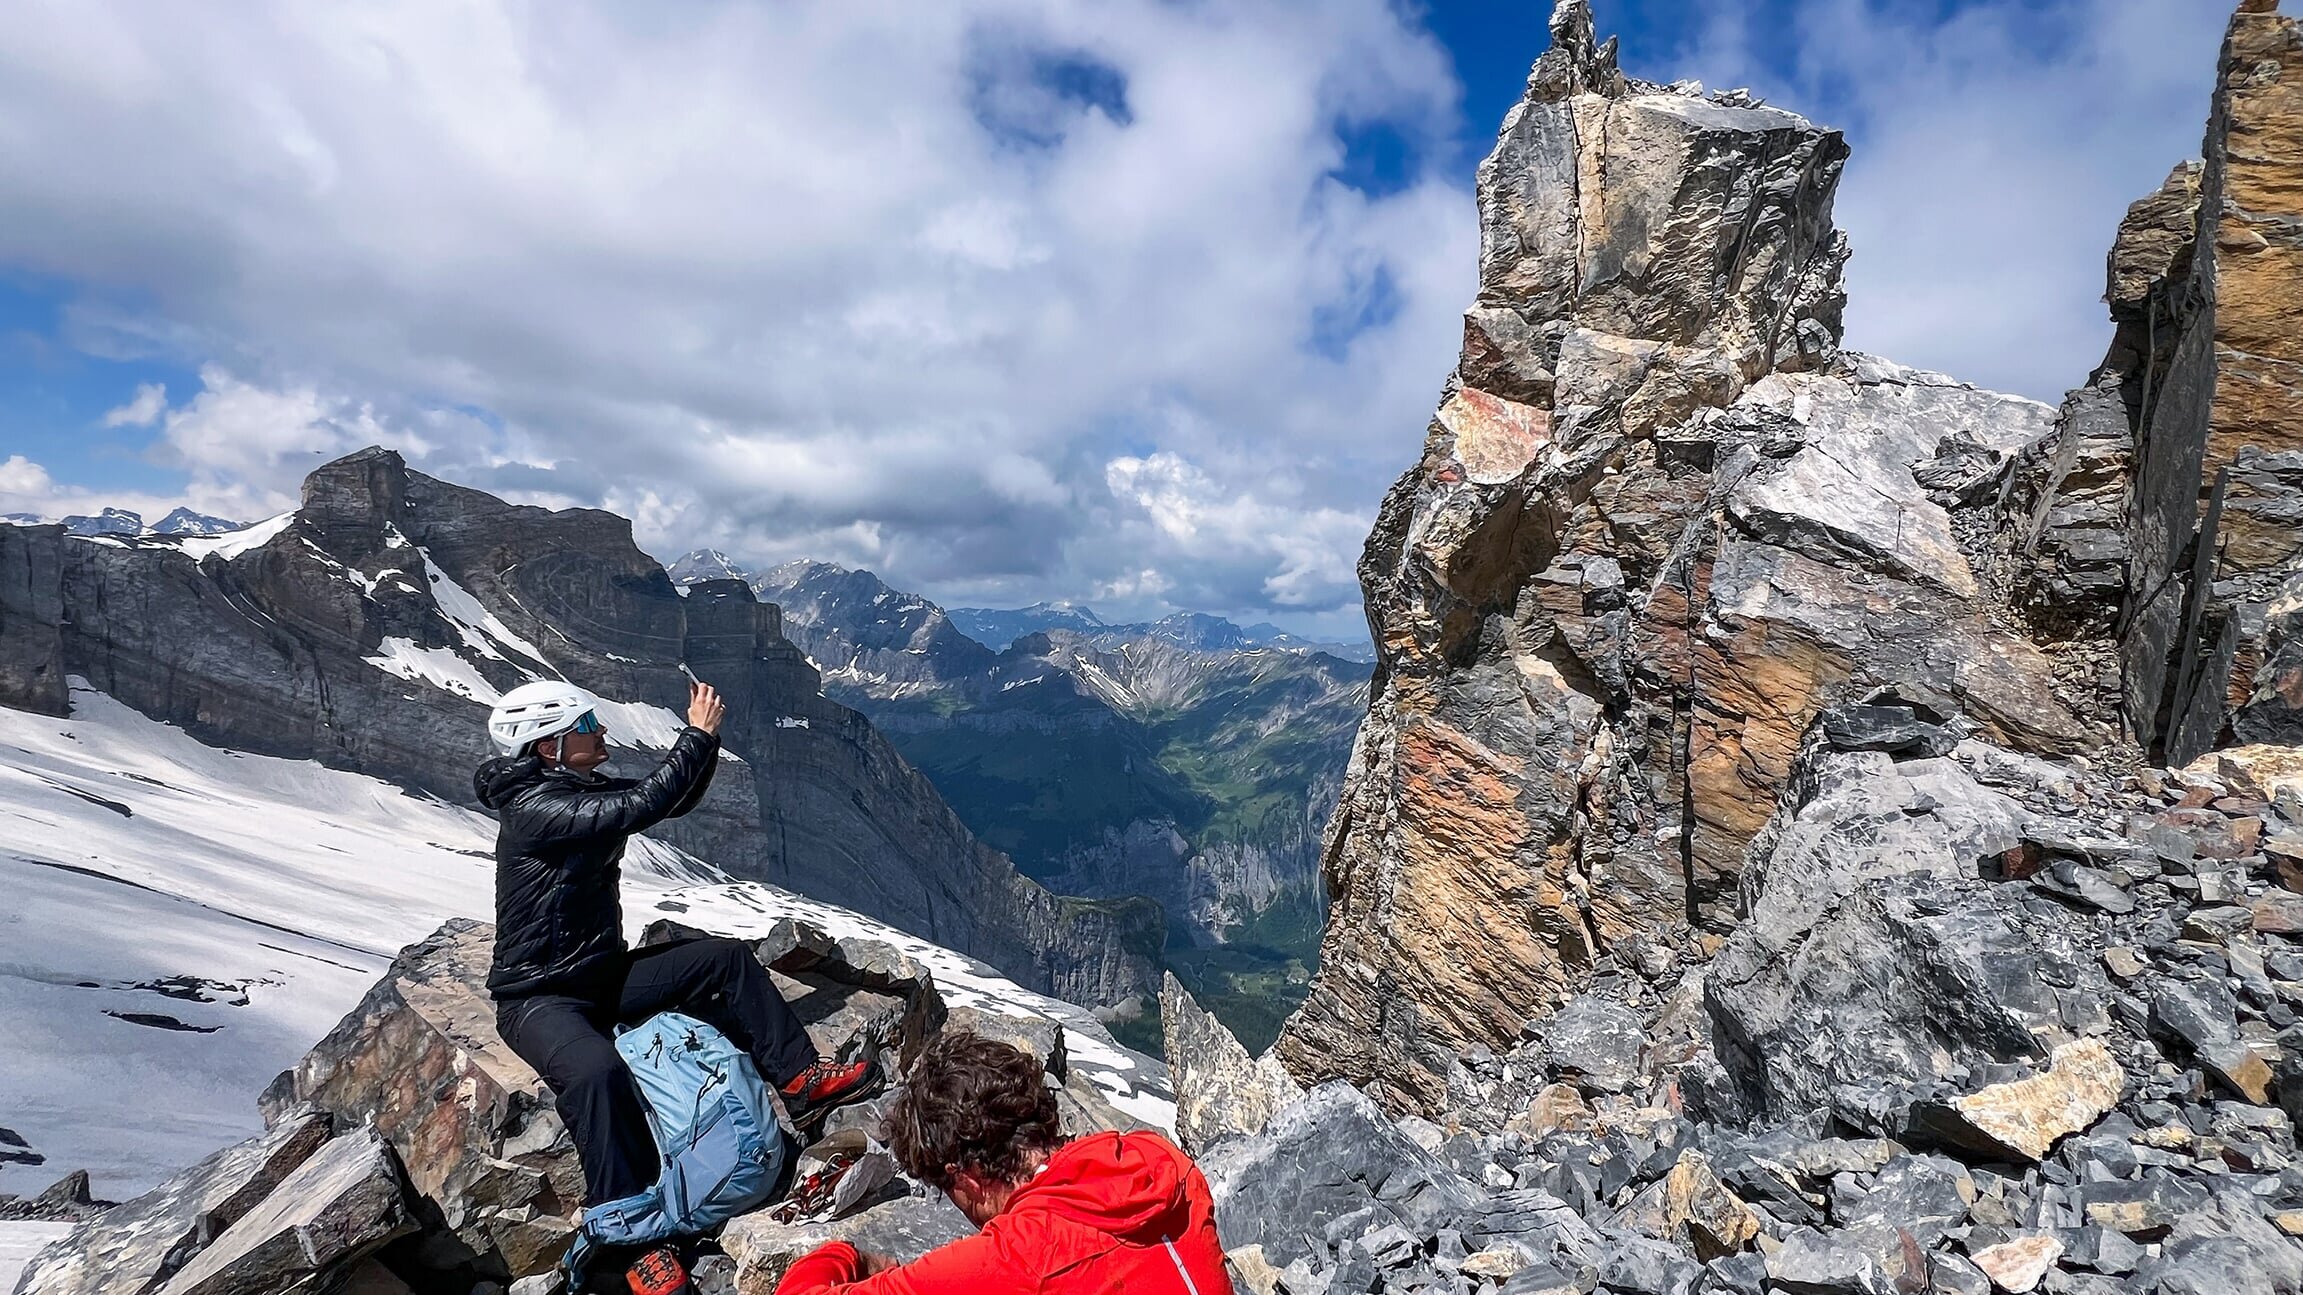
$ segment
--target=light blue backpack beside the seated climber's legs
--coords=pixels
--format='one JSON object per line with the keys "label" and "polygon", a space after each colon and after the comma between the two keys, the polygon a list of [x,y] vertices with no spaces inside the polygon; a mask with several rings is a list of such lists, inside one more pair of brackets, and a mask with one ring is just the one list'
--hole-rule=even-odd
{"label": "light blue backpack beside the seated climber's legs", "polygon": [[601,1244],[707,1233],[774,1201],[792,1159],[760,1069],[693,1016],[659,1012],[615,1039],[647,1104],[663,1175],[638,1196],[592,1205],[569,1247],[569,1290]]}

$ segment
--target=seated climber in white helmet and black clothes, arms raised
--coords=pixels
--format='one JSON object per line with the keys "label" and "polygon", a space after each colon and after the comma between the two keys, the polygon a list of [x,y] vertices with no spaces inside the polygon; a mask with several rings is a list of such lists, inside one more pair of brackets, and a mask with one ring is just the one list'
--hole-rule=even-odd
{"label": "seated climber in white helmet and black clothes, arms raised", "polygon": [[725,705],[709,684],[693,684],[689,726],[638,781],[599,774],[608,735],[594,705],[564,682],[511,689],[488,714],[502,756],[472,774],[500,823],[488,970],[495,1028],[557,1097],[583,1159],[585,1205],[656,1182],[654,1136],[613,1044],[620,1023],[666,1009],[712,1023],[753,1055],[801,1122],[880,1085],[871,1060],[841,1067],[818,1058],[742,942],[624,947],[624,841],[702,802]]}

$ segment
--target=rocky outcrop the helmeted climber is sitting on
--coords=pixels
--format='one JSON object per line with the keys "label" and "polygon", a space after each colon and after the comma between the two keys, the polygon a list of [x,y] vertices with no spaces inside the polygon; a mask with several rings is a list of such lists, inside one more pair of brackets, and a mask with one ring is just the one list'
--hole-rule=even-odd
{"label": "rocky outcrop the helmeted climber is sitting on", "polygon": [[[689,933],[659,922],[647,938]],[[263,1095],[265,1134],[81,1224],[32,1260],[18,1295],[288,1295],[359,1272],[463,1293],[550,1272],[573,1240],[583,1175],[544,1081],[495,1032],[491,940],[488,924],[454,919],[405,947]],[[967,991],[956,993],[970,1005],[947,1007],[921,961],[808,922],[778,919],[751,945],[824,1055],[875,1053],[900,1069],[958,1023],[1032,1046],[1062,1085],[1066,1129],[1142,1127],[1066,1065],[1057,1021]],[[1117,1055],[1108,1035],[1071,1046]],[[730,1224],[742,1290],[772,1290],[799,1240],[857,1235],[919,1254],[960,1235],[965,1219],[894,1175],[887,1152],[857,1154],[880,1106],[836,1113],[801,1157],[795,1194]],[[864,1159],[880,1177],[834,1191]]]}

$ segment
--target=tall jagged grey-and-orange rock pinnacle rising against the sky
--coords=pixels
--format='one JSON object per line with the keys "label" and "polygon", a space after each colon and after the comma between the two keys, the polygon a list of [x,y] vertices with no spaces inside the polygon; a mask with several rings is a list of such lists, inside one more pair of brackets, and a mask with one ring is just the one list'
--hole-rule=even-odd
{"label": "tall jagged grey-and-orange rock pinnacle rising against the sky", "polygon": [[1838,350],[1840,136],[1626,78],[1582,0],[1552,41],[1479,173],[1462,362],[1361,560],[1375,696],[1280,1039],[1398,1108],[1732,929],[1824,710],[2114,733],[2100,671],[2008,611],[2008,482],[2063,419]]}

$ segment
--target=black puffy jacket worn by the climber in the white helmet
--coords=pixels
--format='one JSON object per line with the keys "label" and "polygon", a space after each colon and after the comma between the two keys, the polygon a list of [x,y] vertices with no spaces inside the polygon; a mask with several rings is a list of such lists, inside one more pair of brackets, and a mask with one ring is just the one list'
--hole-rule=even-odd
{"label": "black puffy jacket worn by the climber in the white helmet", "polygon": [[624,841],[696,809],[719,765],[719,737],[686,728],[645,779],[488,760],[472,793],[495,811],[495,963],[488,993],[592,995],[624,952]]}

